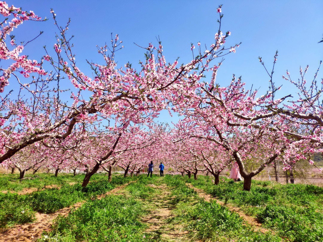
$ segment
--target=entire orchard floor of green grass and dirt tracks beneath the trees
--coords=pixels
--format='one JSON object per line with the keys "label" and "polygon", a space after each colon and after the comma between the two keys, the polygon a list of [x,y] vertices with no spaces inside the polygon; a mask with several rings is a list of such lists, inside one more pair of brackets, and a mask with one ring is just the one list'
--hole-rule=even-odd
{"label": "entire orchard floor of green grass and dirt tracks beneath the trees", "polygon": [[323,188],[313,185],[253,181],[244,191],[225,177],[214,186],[212,176],[95,174],[82,188],[84,175],[18,178],[0,175],[0,241],[323,240]]}

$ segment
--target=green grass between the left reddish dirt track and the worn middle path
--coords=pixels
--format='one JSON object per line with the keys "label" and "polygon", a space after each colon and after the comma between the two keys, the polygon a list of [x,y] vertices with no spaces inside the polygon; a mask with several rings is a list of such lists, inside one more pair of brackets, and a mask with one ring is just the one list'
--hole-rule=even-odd
{"label": "green grass between the left reddish dirt track and the worn middle path", "polygon": [[109,195],[101,200],[90,200],[67,217],[58,217],[50,233],[40,241],[61,242],[139,242],[154,241],[144,230],[141,217],[150,212],[145,200],[158,190],[147,186],[158,183],[158,178],[139,176],[124,188],[124,195]]}

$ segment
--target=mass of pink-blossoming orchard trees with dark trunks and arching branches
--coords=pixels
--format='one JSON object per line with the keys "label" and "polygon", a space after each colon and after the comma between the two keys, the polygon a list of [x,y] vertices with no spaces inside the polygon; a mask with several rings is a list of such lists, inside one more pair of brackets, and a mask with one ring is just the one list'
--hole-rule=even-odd
{"label": "mass of pink-blossoming orchard trees with dark trunks and arching branches", "polygon": [[[143,48],[144,59],[136,67],[118,66],[114,58],[122,41],[111,34],[110,44],[98,47],[102,63],[88,61],[89,69],[81,70],[73,35],[68,34],[70,21],[61,27],[51,10],[56,42],[48,43],[53,48],[44,47],[39,61],[30,60],[23,51],[29,42],[18,44],[13,31],[25,21],[44,20],[0,2],[0,164],[18,168],[21,177],[38,167],[55,169],[56,174],[78,169],[86,173],[85,187],[99,170],[111,176],[119,166],[125,175],[138,174],[151,160],[182,174],[207,170],[217,184],[220,172],[237,163],[245,190],[273,162],[282,162],[284,169],[299,160],[314,164],[311,156],[323,151],[318,71],[309,83],[308,67],[300,69],[298,81],[287,72],[282,81],[292,83],[298,96],[281,95],[281,84],[273,80],[276,52],[270,68],[259,57],[269,78],[263,95],[246,90],[236,76],[228,86],[219,86],[216,75],[223,56],[239,47],[225,46],[231,33],[221,29],[221,7],[216,9],[219,28],[213,43],[192,44],[192,60],[186,64],[167,62],[158,40],[156,46]],[[85,74],[89,71],[92,77]],[[9,82],[20,90],[10,91]],[[70,98],[62,82],[73,88]],[[174,128],[154,123],[165,109],[182,117]],[[253,170],[248,171],[250,162]]]}

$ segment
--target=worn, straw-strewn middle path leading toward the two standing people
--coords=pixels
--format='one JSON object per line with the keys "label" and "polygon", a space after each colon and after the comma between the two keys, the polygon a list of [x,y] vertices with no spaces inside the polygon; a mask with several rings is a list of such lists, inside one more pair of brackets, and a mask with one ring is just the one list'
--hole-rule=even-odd
{"label": "worn, straw-strewn middle path leading toward the two standing people", "polygon": [[153,211],[151,214],[142,218],[142,221],[148,225],[146,233],[152,234],[153,238],[158,241],[189,241],[186,237],[187,231],[183,231],[180,225],[173,226],[169,221],[174,217],[172,209],[174,205],[170,204],[168,197],[171,194],[169,187],[166,184],[148,185],[150,187],[158,189],[160,192],[156,196],[147,198]]}

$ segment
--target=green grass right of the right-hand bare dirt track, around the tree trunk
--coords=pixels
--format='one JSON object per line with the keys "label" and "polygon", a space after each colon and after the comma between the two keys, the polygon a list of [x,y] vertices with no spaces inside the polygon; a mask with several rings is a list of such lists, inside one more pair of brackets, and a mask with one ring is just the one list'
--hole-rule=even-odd
{"label": "green grass right of the right-hand bare dirt track, around the tree trunk", "polygon": [[253,181],[250,192],[243,182],[223,178],[214,186],[210,177],[187,179],[214,197],[241,207],[263,226],[295,242],[323,241],[323,188],[313,185]]}

